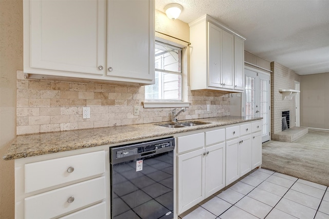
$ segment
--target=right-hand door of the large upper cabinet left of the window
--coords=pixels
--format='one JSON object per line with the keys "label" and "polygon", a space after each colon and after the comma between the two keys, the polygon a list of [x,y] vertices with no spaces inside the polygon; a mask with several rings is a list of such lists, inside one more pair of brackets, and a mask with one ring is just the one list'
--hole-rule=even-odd
{"label": "right-hand door of the large upper cabinet left of the window", "polygon": [[108,1],[107,75],[154,79],[154,1]]}

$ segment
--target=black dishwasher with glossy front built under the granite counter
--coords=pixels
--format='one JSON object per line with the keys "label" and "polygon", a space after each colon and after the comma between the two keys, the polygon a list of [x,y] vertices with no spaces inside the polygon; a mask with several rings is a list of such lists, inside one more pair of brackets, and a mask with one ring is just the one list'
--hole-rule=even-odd
{"label": "black dishwasher with glossy front built under the granite counter", "polygon": [[111,218],[171,219],[173,137],[110,148]]}

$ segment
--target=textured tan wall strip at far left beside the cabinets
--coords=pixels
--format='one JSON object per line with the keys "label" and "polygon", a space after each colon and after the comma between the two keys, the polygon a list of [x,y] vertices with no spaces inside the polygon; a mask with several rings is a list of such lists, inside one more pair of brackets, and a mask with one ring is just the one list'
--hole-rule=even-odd
{"label": "textured tan wall strip at far left beside the cabinets", "polygon": [[0,1],[0,218],[14,218],[14,163],[4,161],[16,135],[16,71],[23,69],[23,1]]}

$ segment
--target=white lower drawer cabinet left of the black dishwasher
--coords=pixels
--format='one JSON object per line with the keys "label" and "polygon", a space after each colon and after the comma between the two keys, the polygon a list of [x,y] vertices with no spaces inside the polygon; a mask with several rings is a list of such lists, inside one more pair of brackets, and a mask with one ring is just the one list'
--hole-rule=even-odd
{"label": "white lower drawer cabinet left of the black dishwasher", "polygon": [[109,164],[90,150],[15,160],[15,218],[106,218]]}

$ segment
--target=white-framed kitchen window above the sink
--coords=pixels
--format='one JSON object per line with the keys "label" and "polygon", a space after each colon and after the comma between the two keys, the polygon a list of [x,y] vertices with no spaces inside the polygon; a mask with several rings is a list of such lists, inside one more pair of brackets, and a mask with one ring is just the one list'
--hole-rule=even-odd
{"label": "white-framed kitchen window above the sink", "polygon": [[182,48],[155,42],[155,84],[145,86],[146,103],[182,102],[181,65]]}

